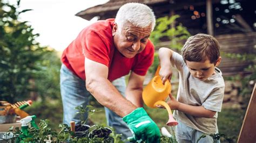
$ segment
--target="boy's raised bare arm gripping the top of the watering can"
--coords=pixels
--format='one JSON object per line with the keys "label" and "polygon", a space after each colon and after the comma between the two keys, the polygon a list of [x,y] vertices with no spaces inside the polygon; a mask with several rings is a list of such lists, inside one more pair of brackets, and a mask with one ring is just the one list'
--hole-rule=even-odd
{"label": "boy's raised bare arm gripping the top of the watering can", "polygon": [[172,69],[171,69],[171,58],[173,51],[169,48],[160,48],[158,52],[158,58],[160,61],[160,71],[159,75],[161,76],[161,80],[163,84],[167,79],[171,80],[172,77]]}

